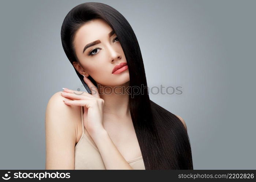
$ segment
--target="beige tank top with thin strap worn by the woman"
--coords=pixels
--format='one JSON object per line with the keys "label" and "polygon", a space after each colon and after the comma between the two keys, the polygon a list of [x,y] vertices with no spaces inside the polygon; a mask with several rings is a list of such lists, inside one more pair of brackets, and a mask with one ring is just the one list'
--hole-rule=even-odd
{"label": "beige tank top with thin strap worn by the woman", "polygon": [[[85,134],[86,129],[83,124],[83,106],[81,106],[81,118],[83,133],[75,146],[75,169],[106,169],[97,146],[91,142]],[[127,162],[132,169],[145,169],[142,156]]]}

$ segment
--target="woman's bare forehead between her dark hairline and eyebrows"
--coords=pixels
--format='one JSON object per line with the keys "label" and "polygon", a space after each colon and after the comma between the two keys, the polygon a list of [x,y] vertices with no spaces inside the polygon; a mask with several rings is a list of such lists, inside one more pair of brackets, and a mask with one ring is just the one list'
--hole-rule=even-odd
{"label": "woman's bare forehead between her dark hairline and eyebrows", "polygon": [[108,37],[108,33],[112,28],[101,19],[94,19],[82,25],[76,32],[74,37],[75,47],[84,46],[92,41]]}

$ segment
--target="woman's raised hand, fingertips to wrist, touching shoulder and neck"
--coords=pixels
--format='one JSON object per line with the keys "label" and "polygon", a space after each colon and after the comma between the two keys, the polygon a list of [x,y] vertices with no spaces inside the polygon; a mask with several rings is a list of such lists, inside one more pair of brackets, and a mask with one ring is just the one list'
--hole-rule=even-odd
{"label": "woman's raised hand, fingertips to wrist, touching shoulder and neck", "polygon": [[[84,82],[89,86],[89,88],[96,88],[87,77],[84,77]],[[103,127],[104,100],[99,97],[98,90],[97,93],[94,95],[86,92],[80,95],[76,94],[76,91],[74,90],[64,89],[64,92],[62,92],[61,95],[65,98],[73,99],[67,101],[63,100],[65,104],[83,106],[84,127],[91,136],[93,136],[97,132],[105,130]]]}

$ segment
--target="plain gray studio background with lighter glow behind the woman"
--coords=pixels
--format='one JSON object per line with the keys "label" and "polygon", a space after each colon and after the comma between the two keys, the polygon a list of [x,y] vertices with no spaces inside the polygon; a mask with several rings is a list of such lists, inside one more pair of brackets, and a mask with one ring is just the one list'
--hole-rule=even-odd
{"label": "plain gray studio background with lighter glow behind the woman", "polygon": [[[0,2],[0,169],[45,169],[49,98],[85,91],[60,39],[64,17],[84,2]],[[183,87],[150,99],[185,120],[194,169],[256,169],[256,1],[95,2],[131,24],[148,87]]]}

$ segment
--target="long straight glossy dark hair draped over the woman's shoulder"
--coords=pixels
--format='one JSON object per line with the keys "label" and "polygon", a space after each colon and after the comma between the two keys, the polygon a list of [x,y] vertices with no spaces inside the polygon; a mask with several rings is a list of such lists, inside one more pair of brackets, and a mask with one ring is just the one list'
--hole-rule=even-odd
{"label": "long straight glossy dark hair draped over the woman's shoulder", "polygon": [[[69,61],[71,64],[79,62],[74,51],[74,36],[82,25],[93,19],[105,20],[115,31],[127,60],[130,88],[141,88],[143,85],[146,91],[146,94],[132,94],[132,90],[129,90],[131,118],[145,169],[193,169],[187,130],[176,115],[149,99],[139,43],[131,25],[120,12],[109,5],[95,2],[72,8],[61,27],[61,42]],[[83,76],[75,71],[90,93]],[[88,78],[97,87],[95,80],[91,76]]]}

